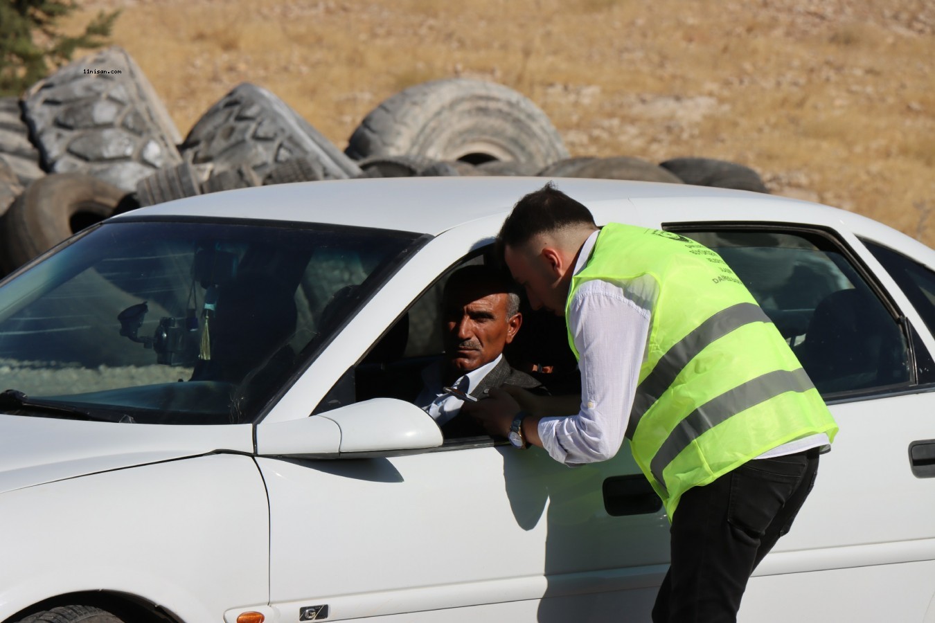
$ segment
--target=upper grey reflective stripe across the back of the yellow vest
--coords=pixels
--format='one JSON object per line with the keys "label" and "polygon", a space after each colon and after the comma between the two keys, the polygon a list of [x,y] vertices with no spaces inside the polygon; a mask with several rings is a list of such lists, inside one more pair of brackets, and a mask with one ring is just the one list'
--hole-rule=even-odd
{"label": "upper grey reflective stripe across the back of the yellow vest", "polygon": [[704,347],[712,344],[727,333],[751,322],[772,322],[759,305],[739,303],[731,305],[705,320],[692,333],[688,333],[655,364],[653,372],[643,379],[633,400],[633,410],[626,426],[626,438],[632,440],[633,432],[643,414],[669,389],[675,377],[689,361],[695,359]]}

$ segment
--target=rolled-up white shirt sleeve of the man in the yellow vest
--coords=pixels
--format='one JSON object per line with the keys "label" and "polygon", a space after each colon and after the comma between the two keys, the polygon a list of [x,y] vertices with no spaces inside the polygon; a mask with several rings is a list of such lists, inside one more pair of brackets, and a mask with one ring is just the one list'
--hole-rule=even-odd
{"label": "rolled-up white shirt sleeve of the man in the yellow vest", "polygon": [[568,307],[580,354],[582,404],[576,415],[543,418],[539,437],[569,466],[611,459],[624,441],[650,328],[648,309],[601,280],[585,282]]}

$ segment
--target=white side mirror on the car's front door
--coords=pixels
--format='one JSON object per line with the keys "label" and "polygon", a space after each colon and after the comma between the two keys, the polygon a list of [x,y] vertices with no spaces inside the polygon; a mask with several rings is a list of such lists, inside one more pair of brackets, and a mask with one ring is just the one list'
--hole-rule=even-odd
{"label": "white side mirror on the car's front door", "polygon": [[442,441],[431,416],[394,398],[374,398],[309,418],[256,427],[256,453],[262,457],[389,457],[439,447]]}

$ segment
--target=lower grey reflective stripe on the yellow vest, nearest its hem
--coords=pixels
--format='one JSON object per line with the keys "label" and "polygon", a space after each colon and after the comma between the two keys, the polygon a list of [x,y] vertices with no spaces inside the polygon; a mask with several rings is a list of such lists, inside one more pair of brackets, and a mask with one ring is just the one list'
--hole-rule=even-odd
{"label": "lower grey reflective stripe on the yellow vest, nearest its hem", "polygon": [[802,368],[792,371],[776,370],[757,376],[702,404],[669,433],[669,438],[656,451],[650,462],[650,469],[659,487],[663,490],[666,488],[662,471],[703,432],[710,431],[727,418],[756,404],[765,403],[786,391],[800,393],[809,389],[814,389],[814,385]]}

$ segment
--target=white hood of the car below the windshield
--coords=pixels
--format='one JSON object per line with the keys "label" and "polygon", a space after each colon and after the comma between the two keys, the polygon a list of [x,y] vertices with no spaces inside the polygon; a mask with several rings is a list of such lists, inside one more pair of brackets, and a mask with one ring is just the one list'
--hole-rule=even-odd
{"label": "white hood of the car below the windshield", "polygon": [[252,454],[252,424],[167,426],[0,414],[0,493],[218,451]]}

